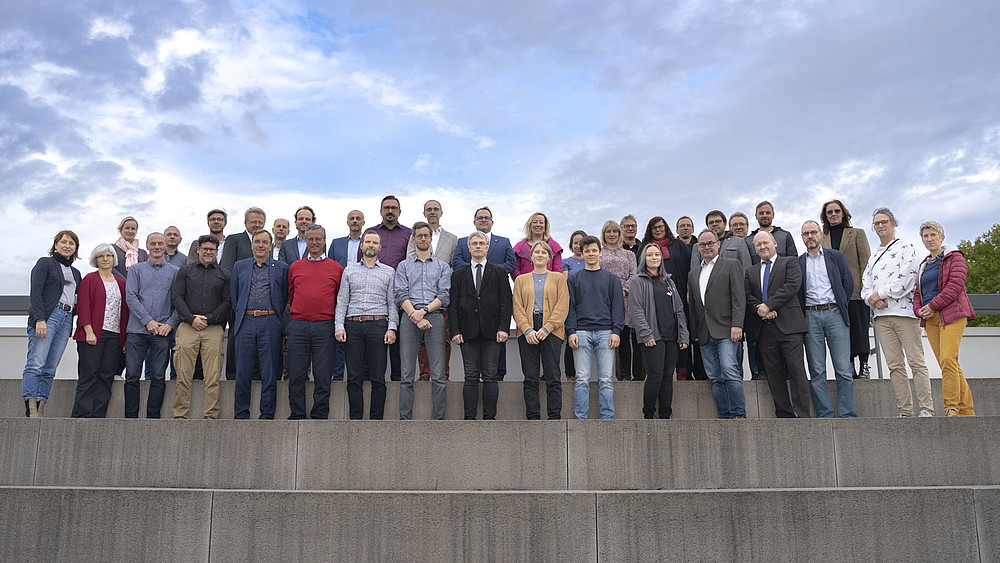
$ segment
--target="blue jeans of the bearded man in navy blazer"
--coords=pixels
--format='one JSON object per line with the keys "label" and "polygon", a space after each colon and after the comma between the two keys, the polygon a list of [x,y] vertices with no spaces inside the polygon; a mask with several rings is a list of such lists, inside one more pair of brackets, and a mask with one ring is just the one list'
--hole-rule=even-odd
{"label": "blue jeans of the bearded man in navy blazer", "polygon": [[[851,329],[836,308],[826,311],[806,310],[806,360],[812,383],[813,404],[817,418],[832,418],[833,404],[826,384],[826,347],[830,347],[833,373],[837,377],[837,413],[843,418],[858,416],[854,408],[854,377],[851,374]],[[824,342],[825,340],[825,342]]]}

